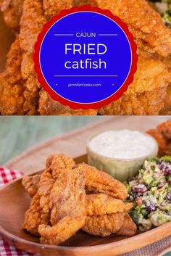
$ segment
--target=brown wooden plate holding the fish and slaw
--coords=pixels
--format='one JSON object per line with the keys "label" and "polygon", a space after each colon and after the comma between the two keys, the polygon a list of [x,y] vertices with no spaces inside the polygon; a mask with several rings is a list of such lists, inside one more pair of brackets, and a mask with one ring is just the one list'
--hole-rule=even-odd
{"label": "brown wooden plate holding the fish and slaw", "polygon": [[[86,156],[78,157],[75,162],[86,162]],[[121,255],[171,234],[171,223],[167,223],[133,237],[99,237],[78,231],[60,246],[44,245],[39,243],[38,237],[31,236],[21,229],[29,204],[30,198],[22,187],[21,179],[9,183],[0,190],[0,234],[14,247],[38,255]]]}

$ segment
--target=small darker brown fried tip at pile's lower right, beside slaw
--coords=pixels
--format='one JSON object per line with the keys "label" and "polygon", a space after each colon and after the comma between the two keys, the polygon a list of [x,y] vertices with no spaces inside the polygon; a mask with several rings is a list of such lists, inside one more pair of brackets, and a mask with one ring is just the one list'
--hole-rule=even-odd
{"label": "small darker brown fried tip at pile's lower right, beside slaw", "polygon": [[126,212],[122,227],[116,232],[116,234],[120,236],[134,236],[136,231],[137,226],[133,222],[132,218],[130,218],[128,212]]}

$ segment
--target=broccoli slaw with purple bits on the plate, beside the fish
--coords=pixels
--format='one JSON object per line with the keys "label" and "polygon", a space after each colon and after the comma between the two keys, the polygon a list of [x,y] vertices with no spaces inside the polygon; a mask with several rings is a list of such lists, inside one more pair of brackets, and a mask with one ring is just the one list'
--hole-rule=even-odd
{"label": "broccoli slaw with purple bits on the plate, beside the fish", "polygon": [[146,160],[126,186],[134,205],[130,215],[140,231],[171,221],[171,157]]}

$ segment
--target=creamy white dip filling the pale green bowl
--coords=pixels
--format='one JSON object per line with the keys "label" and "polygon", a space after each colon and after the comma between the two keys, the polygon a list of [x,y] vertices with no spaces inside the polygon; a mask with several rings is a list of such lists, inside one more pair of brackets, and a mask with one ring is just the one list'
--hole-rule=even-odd
{"label": "creamy white dip filling the pale green bowl", "polygon": [[117,159],[144,157],[156,149],[150,136],[139,131],[104,131],[89,141],[89,148],[101,156]]}

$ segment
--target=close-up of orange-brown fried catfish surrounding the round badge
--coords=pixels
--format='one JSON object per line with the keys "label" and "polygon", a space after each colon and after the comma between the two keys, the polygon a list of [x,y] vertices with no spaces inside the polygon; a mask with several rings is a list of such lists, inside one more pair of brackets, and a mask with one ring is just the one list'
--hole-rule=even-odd
{"label": "close-up of orange-brown fried catfish surrounding the round badge", "polygon": [[[43,25],[62,9],[83,4],[109,9],[128,25],[138,46],[134,81],[122,97],[101,110],[71,110],[38,83],[34,45]],[[7,24],[17,31],[0,75],[1,115],[170,115],[171,30],[145,0],[0,0]]]}

